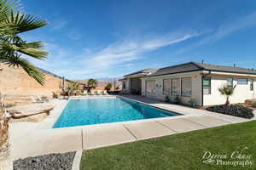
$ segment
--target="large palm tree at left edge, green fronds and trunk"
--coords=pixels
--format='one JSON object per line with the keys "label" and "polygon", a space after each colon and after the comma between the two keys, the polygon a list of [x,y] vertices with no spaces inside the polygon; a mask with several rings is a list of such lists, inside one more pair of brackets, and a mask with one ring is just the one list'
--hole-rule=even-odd
{"label": "large palm tree at left edge, green fronds and trunk", "polygon": [[[35,59],[45,59],[47,52],[42,50],[43,42],[26,42],[20,33],[31,31],[48,23],[29,14],[20,12],[20,1],[0,0],[0,64],[21,67],[39,84],[44,85],[44,74],[27,59],[21,58],[26,54]],[[0,161],[8,161],[9,157],[9,118],[5,116],[3,96],[0,96]],[[0,162],[0,169],[4,163]],[[3,165],[4,166],[4,165]]]}

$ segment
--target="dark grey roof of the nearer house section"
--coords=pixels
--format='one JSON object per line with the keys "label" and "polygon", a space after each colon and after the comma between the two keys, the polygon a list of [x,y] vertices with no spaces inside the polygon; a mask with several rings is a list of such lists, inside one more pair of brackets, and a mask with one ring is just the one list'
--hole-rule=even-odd
{"label": "dark grey roof of the nearer house section", "polygon": [[158,71],[155,71],[154,73],[146,77],[155,77],[155,76],[162,76],[162,75],[189,72],[189,71],[221,71],[221,72],[256,75],[256,70],[253,70],[253,69],[189,62],[181,65],[172,65],[172,66],[160,68]]}

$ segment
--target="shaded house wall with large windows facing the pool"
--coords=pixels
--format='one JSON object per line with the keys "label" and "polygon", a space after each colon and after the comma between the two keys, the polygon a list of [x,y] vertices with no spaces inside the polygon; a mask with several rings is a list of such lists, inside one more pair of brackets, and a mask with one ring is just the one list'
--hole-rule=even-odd
{"label": "shaded house wall with large windows facing the pool", "polygon": [[[165,100],[166,96],[170,99],[174,99],[176,95],[166,95],[163,93],[163,80],[164,79],[181,79],[185,77],[191,78],[191,89],[192,94],[191,97],[184,97],[179,93],[179,98],[184,102],[187,103],[189,99],[194,99],[197,105],[201,105],[201,74],[199,71],[189,72],[189,73],[177,73],[172,75],[166,76],[158,76],[158,77],[143,77],[142,78],[142,95],[147,96],[149,98]],[[147,94],[146,93],[146,81],[154,80],[154,94]]]}

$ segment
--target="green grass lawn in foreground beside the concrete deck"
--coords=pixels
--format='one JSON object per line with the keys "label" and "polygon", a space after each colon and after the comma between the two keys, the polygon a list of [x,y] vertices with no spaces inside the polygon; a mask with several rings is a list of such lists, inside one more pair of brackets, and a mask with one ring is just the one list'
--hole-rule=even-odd
{"label": "green grass lawn in foreground beside the concrete deck", "polygon": [[[206,151],[227,155],[223,161],[246,161],[230,158],[234,151],[240,150],[247,156],[251,155],[247,160],[253,161],[252,166],[202,162]],[[86,150],[80,167],[82,170],[256,169],[256,121]]]}

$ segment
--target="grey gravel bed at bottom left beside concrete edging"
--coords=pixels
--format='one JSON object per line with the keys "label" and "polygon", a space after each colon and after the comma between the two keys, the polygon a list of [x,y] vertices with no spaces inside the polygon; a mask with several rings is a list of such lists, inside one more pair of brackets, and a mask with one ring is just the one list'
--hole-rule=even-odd
{"label": "grey gravel bed at bottom left beside concrete edging", "polygon": [[71,170],[76,152],[27,157],[14,161],[14,170]]}

